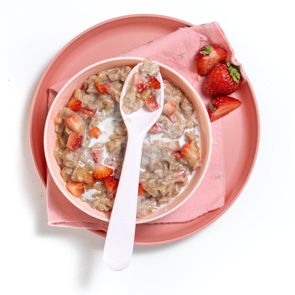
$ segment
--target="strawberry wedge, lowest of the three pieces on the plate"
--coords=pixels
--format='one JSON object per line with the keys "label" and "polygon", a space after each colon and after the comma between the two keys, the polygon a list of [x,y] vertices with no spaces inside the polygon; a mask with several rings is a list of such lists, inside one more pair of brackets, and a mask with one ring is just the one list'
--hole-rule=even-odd
{"label": "strawberry wedge, lowest of the three pieces on the plate", "polygon": [[231,96],[218,96],[212,99],[207,106],[210,121],[213,122],[233,110],[237,109],[242,102]]}

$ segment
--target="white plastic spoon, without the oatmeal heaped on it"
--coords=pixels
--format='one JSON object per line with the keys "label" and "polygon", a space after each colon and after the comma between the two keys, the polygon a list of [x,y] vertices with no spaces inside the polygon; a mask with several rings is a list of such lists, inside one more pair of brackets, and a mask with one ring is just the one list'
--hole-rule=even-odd
{"label": "white plastic spoon, without the oatmeal heaped on it", "polygon": [[134,75],[139,72],[140,65],[142,63],[137,64],[127,76],[120,96],[120,111],[127,128],[128,139],[104,245],[104,262],[116,271],[126,268],[132,258],[143,140],[148,130],[160,117],[164,104],[163,79],[159,72],[156,76],[161,85],[157,97],[159,108],[151,111],[144,105],[129,114],[122,109],[123,98],[132,86]]}

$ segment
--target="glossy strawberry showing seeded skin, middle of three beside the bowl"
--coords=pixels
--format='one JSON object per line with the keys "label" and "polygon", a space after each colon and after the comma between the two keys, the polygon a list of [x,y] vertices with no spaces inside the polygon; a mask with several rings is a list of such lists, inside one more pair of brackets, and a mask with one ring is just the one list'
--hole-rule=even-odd
{"label": "glossy strawberry showing seeded skin, middle of three beside the bowl", "polygon": [[240,70],[230,62],[215,65],[206,76],[204,92],[211,96],[229,95],[242,83]]}

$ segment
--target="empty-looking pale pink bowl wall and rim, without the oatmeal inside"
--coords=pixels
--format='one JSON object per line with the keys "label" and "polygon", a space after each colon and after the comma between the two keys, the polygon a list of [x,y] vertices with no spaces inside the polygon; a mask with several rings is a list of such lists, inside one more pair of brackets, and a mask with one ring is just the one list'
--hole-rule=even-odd
{"label": "empty-looking pale pink bowl wall and rim, without the oatmeal inside", "polygon": [[[55,157],[53,155],[53,148],[55,146],[55,130],[53,119],[58,113],[60,109],[68,105],[68,101],[71,99],[73,91],[76,88],[81,88],[84,85],[84,81],[86,81],[89,76],[94,73],[97,73],[102,70],[122,67],[122,66],[135,66],[137,63],[142,62],[143,58],[136,57],[120,57],[120,58],[110,58],[107,60],[100,61],[93,65],[88,66],[83,69],[79,73],[77,73],[73,78],[71,78],[60,90],[58,95],[55,97],[53,104],[51,105],[47,119],[45,122],[45,130],[44,130],[44,150],[45,150],[45,158],[47,162],[47,166],[50,174],[53,177],[56,185],[63,193],[63,195],[71,201],[77,208],[81,209],[83,212],[89,214],[90,216],[96,217],[97,219],[109,221],[110,212],[101,212],[96,209],[92,209],[86,202],[81,201],[79,198],[73,196],[68,189],[66,188],[66,182],[63,180],[60,167],[56,163]],[[196,90],[191,86],[191,84],[179,75],[173,69],[158,63],[160,65],[160,72],[163,77],[165,77],[168,81],[174,82],[178,87],[180,87],[185,94],[188,96],[194,108],[196,110],[196,114],[198,117],[198,122],[200,126],[201,132],[201,167],[194,173],[191,178],[188,186],[173,200],[171,203],[160,207],[157,210],[154,210],[148,216],[144,218],[137,218],[136,223],[144,223],[149,222],[160,217],[163,217],[178,207],[180,207],[189,197],[194,193],[194,191],[198,188],[201,181],[204,178],[204,175],[207,171],[209,160],[212,151],[212,130],[211,123],[208,117],[208,113],[206,107],[201,100],[199,94]]]}

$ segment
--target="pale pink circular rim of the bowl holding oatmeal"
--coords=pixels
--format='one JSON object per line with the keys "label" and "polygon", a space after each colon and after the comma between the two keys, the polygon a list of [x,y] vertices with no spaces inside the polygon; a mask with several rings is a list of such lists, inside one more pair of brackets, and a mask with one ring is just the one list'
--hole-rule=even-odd
{"label": "pale pink circular rim of the bowl holding oatmeal", "polygon": [[[50,108],[48,109],[48,112],[47,112],[47,117],[46,117],[46,121],[45,121],[45,127],[44,127],[44,137],[43,137],[43,143],[44,143],[44,152],[45,152],[45,159],[46,159],[46,164],[47,164],[47,169],[48,171],[50,172],[55,184],[57,185],[58,189],[62,192],[62,194],[74,205],[76,206],[78,209],[80,209],[81,211],[83,211],[85,214],[88,214],[92,217],[95,217],[96,219],[98,220],[102,220],[102,221],[106,221],[106,222],[109,222],[109,217],[110,217],[110,214],[109,212],[103,212],[104,215],[106,215],[106,217],[101,217],[101,216],[98,216],[97,213],[98,212],[101,212],[97,209],[92,209],[90,207],[89,204],[87,204],[86,202],[82,202],[80,200],[80,198],[76,198],[76,197],[71,197],[70,196],[70,192],[66,189],[66,190],[63,190],[63,187],[64,186],[61,186],[60,185],[60,182],[58,181],[58,179],[56,178],[55,176],[55,173],[53,171],[53,168],[52,166],[50,165],[50,157],[49,157],[49,151],[47,149],[47,132],[48,132],[48,125],[50,124],[50,120],[51,120],[51,116],[52,116],[52,113],[53,113],[53,110],[55,109],[55,104],[56,102],[58,101],[58,99],[63,95],[63,92],[68,88],[69,85],[71,85],[71,83],[73,83],[74,80],[76,80],[78,77],[80,77],[81,75],[83,75],[83,73],[91,70],[92,68],[96,68],[97,66],[99,65],[102,65],[102,64],[108,64],[108,63],[112,63],[112,62],[116,62],[116,61],[120,61],[120,62],[128,62],[128,64],[131,66],[137,64],[137,63],[140,63],[142,62],[142,60],[144,60],[145,58],[140,58],[140,57],[133,57],[133,56],[122,56],[122,57],[115,57],[115,58],[108,58],[108,59],[105,59],[105,60],[101,60],[99,62],[96,62],[96,63],[93,63],[89,66],[87,66],[86,68],[83,68],[81,71],[79,71],[78,73],[76,73],[74,76],[72,76],[64,85],[63,87],[60,89],[60,91],[58,92],[58,94],[56,95],[56,97],[54,98]],[[150,221],[154,221],[154,220],[157,220],[161,217],[164,217],[165,215],[173,212],[174,210],[176,210],[177,208],[179,208],[183,203],[185,203],[190,197],[192,194],[194,194],[194,192],[196,191],[196,189],[199,187],[200,183],[202,182],[205,174],[206,174],[206,171],[207,171],[207,168],[209,166],[209,162],[210,162],[210,158],[211,158],[211,154],[212,154],[212,127],[211,127],[211,122],[210,122],[210,119],[209,119],[209,115],[208,115],[208,112],[207,112],[207,109],[201,99],[201,96],[199,95],[199,93],[194,89],[194,87],[191,85],[191,83],[189,83],[189,81],[184,78],[181,74],[179,74],[177,71],[175,71],[174,69],[168,67],[167,65],[163,64],[163,63],[159,63],[158,61],[156,60],[153,60],[154,62],[156,62],[159,66],[160,66],[160,69],[165,69],[166,71],[169,71],[170,73],[172,73],[173,75],[175,76],[178,76],[180,78],[180,81],[182,81],[182,85],[185,85],[186,88],[190,89],[190,91],[194,94],[194,96],[196,96],[196,98],[198,99],[200,103],[200,106],[202,108],[202,112],[204,112],[205,114],[205,117],[206,117],[206,125],[207,125],[207,128],[208,128],[208,131],[209,131],[209,134],[207,134],[208,136],[208,147],[207,147],[207,161],[205,161],[204,165],[202,165],[202,169],[203,169],[203,172],[201,174],[201,176],[198,178],[198,181],[196,183],[196,185],[194,186],[194,188],[191,190],[191,192],[181,201],[179,202],[178,204],[176,204],[175,206],[173,206],[172,209],[170,210],[167,210],[167,211],[164,211],[162,214],[156,216],[156,217],[153,217],[153,214],[148,214],[146,217],[143,217],[143,218],[136,218],[136,224],[139,224],[139,223],[146,223],[146,222],[150,222]],[[127,65],[127,64],[126,64]],[[122,65],[123,66],[123,65]],[[110,67],[110,68],[105,68],[105,70],[107,69],[112,69],[114,68],[114,66]],[[102,70],[100,70],[102,71]],[[178,87],[180,87],[181,89],[183,87],[179,86],[177,84]],[[50,116],[51,115],[51,116]],[[204,124],[204,122],[203,122]],[[202,124],[201,127],[203,127],[204,125]],[[52,153],[52,151],[51,151]],[[201,154],[202,156],[202,154]],[[55,160],[55,157],[53,156],[54,160]],[[55,164],[58,165],[55,161]],[[59,166],[59,165],[58,165]],[[65,181],[62,180],[64,183]],[[65,193],[65,191],[67,192],[67,194]],[[180,193],[181,194],[181,193]],[[178,196],[176,196],[174,198],[174,200],[177,198]],[[75,198],[75,199],[74,199]],[[77,201],[77,202],[76,202]],[[173,201],[171,201],[169,204],[171,204]],[[83,204],[87,204],[87,206],[82,206]],[[86,207],[86,208],[85,208]],[[95,214],[96,213],[96,214]]]}

